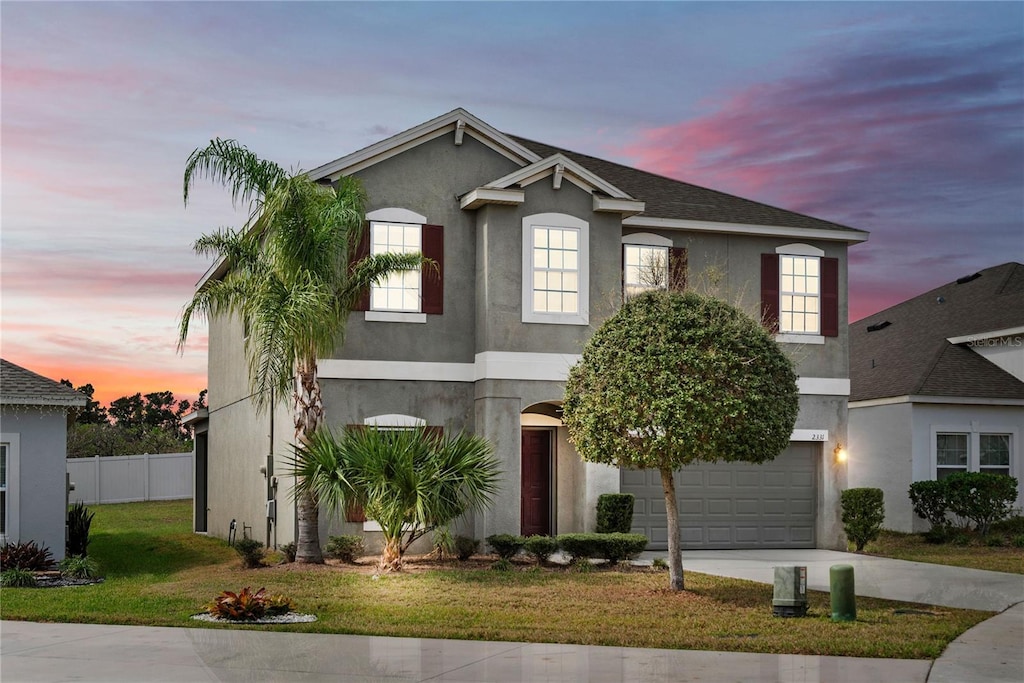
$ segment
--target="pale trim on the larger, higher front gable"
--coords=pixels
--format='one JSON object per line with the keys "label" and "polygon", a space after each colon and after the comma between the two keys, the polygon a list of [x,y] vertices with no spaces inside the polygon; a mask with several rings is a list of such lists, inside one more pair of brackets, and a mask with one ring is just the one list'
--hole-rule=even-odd
{"label": "pale trim on the larger, higher front gable", "polygon": [[539,156],[505,133],[477,119],[466,110],[457,109],[358,152],[353,152],[346,157],[314,168],[309,171],[308,175],[317,180],[322,178],[336,180],[342,175],[355,173],[424,142],[449,134],[454,134],[456,144],[461,144],[463,135],[469,134],[519,165],[531,164],[540,160]]}

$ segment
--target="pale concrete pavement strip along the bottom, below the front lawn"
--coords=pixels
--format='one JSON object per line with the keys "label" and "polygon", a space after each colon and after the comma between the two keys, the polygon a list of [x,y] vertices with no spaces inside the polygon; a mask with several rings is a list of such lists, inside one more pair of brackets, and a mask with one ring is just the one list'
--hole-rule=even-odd
{"label": "pale concrete pavement strip along the bottom, below the front lawn", "polygon": [[4,683],[925,683],[931,661],[86,624],[0,623]]}

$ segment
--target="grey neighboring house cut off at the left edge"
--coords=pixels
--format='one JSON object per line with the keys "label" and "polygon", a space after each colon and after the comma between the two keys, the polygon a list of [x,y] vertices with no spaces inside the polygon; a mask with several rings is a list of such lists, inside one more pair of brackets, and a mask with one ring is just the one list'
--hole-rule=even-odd
{"label": "grey neighboring house cut off at the left edge", "polygon": [[87,398],[0,359],[0,535],[65,556],[68,425]]}

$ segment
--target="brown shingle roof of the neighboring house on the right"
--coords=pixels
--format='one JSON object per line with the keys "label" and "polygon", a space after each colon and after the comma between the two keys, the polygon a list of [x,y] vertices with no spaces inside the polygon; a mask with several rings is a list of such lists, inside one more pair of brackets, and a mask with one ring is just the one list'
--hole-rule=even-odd
{"label": "brown shingle roof of the neighboring house on the right", "polygon": [[[1024,326],[1024,265],[1004,263],[978,274],[850,325],[850,400],[1024,398],[1024,382],[967,342],[947,341]],[[891,325],[868,332],[887,321]]]}

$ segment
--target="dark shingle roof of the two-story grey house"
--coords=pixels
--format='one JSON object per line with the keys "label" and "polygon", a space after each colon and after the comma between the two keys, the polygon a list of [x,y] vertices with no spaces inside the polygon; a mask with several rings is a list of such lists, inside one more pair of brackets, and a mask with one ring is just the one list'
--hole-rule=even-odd
{"label": "dark shingle roof of the two-story grey house", "polygon": [[846,225],[674,180],[597,157],[589,157],[515,135],[509,137],[542,158],[555,154],[565,155],[635,199],[643,201],[646,204],[644,215],[652,218],[778,225],[862,233],[861,230]]}

